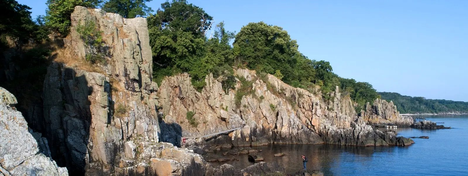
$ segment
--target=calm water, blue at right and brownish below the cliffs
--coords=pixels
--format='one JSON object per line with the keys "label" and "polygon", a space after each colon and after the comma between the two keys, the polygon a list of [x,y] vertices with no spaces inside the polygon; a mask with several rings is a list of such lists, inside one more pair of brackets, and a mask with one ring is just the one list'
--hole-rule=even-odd
{"label": "calm water, blue at right and brownish below the cliffs", "polygon": [[[429,136],[413,139],[408,147],[345,147],[338,145],[275,144],[252,147],[265,161],[278,161],[288,174],[302,169],[300,155],[308,157],[307,168],[322,170],[326,176],[468,176],[468,116],[424,116],[445,122],[453,129],[421,130],[398,128],[399,136]],[[284,153],[275,157],[273,154]],[[224,163],[236,168],[252,164],[247,155]]]}

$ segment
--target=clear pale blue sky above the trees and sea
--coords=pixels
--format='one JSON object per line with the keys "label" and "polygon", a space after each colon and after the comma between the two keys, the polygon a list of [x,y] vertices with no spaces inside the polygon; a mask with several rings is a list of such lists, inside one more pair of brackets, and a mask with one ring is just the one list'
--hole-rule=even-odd
{"label": "clear pale blue sky above the trees and sea", "polygon": [[[146,3],[154,10],[165,0]],[[18,0],[45,14],[46,0]],[[467,0],[188,0],[226,29],[266,22],[379,92],[468,102]]]}

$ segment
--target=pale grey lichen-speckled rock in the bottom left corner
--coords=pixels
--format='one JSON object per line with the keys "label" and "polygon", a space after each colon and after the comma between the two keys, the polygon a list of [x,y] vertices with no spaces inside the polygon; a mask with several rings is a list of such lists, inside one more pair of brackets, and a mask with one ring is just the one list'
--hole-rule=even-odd
{"label": "pale grey lichen-speckled rock in the bottom left corner", "polygon": [[[21,112],[14,109],[14,95],[0,88],[0,175],[1,176],[68,176],[40,150],[37,139],[28,130]],[[47,139],[39,139],[44,147]],[[47,145],[45,145],[47,146]]]}

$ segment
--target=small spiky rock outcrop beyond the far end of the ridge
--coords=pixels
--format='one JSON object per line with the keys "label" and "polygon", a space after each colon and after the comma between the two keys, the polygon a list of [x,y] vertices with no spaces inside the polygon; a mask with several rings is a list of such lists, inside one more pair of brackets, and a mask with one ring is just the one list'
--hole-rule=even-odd
{"label": "small spiky rock outcrop beyond the far end of the ridge", "polygon": [[381,99],[376,99],[372,105],[367,102],[361,117],[368,125],[411,126],[414,123],[413,118],[401,116],[392,101]]}

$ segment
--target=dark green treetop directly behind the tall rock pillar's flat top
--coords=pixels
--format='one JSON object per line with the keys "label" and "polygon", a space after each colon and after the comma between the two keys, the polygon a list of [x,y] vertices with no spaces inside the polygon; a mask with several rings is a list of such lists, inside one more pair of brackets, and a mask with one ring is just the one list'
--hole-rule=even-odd
{"label": "dark green treetop directly behind the tall rock pillar's flat top", "polygon": [[102,10],[122,15],[124,18],[145,17],[153,12],[145,2],[151,0],[109,0],[104,3]]}

